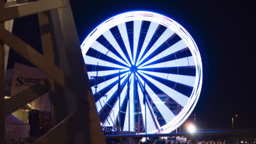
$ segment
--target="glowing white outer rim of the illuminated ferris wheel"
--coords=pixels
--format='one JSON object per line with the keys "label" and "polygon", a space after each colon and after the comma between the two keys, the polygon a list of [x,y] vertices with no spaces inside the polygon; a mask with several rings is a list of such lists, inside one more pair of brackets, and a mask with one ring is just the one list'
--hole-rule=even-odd
{"label": "glowing white outer rim of the illuminated ferris wheel", "polygon": [[[174,130],[173,129],[174,127],[180,126],[188,118],[188,116],[191,114],[191,112],[193,111],[193,109],[194,109],[194,107],[195,107],[195,105],[196,105],[196,103],[199,99],[199,95],[200,95],[201,87],[202,87],[202,62],[201,62],[201,56],[200,56],[199,50],[197,48],[197,45],[196,45],[194,39],[191,37],[191,35],[181,25],[179,25],[179,23],[177,23],[176,21],[168,18],[167,16],[164,16],[164,15],[161,15],[161,14],[158,14],[158,13],[154,13],[152,11],[129,11],[129,12],[126,12],[126,13],[122,13],[122,14],[119,14],[119,15],[116,15],[116,16],[113,16],[113,17],[109,18],[108,20],[102,22],[101,25],[97,26],[94,29],[94,31],[92,31],[89,34],[89,36],[86,37],[86,39],[82,43],[82,45],[81,45],[82,53],[83,53],[83,56],[84,56],[86,54],[86,52],[89,50],[91,43],[93,43],[93,41],[95,41],[98,38],[98,35],[102,35],[102,32],[99,29],[104,29],[104,28],[105,29],[110,29],[110,28],[114,27],[112,25],[106,26],[106,23],[108,23],[108,22],[114,23],[113,21],[115,21],[115,19],[117,19],[119,16],[122,16],[124,14],[127,14],[124,17],[133,16],[133,17],[135,17],[135,19],[131,20],[131,19],[124,19],[124,17],[121,17],[122,19],[124,19],[124,21],[120,21],[119,23],[115,22],[115,26],[119,25],[120,23],[124,23],[124,22],[128,22],[128,21],[148,20],[148,19],[143,19],[143,16],[142,17],[137,16],[137,15],[141,15],[141,13],[147,14],[147,15],[153,15],[153,16],[156,16],[158,18],[160,16],[161,20],[164,21],[164,24],[166,24],[166,26],[168,24],[168,23],[165,23],[166,21],[167,22],[171,21],[172,24],[174,23],[174,26],[177,26],[179,28],[177,30],[177,32],[176,31],[174,31],[174,32],[177,33],[179,35],[179,37],[181,37],[181,38],[185,37],[184,39],[182,38],[182,40],[187,40],[187,41],[185,41],[185,43],[188,45],[188,48],[189,48],[189,50],[190,50],[190,52],[193,56],[193,59],[194,59],[195,65],[196,65],[196,67],[195,67],[196,68],[196,79],[195,79],[195,85],[194,85],[193,92],[192,92],[192,93],[195,93],[196,96],[194,95],[194,97],[193,97],[193,95],[191,94],[192,96],[189,98],[186,105],[184,106],[184,108],[187,108],[187,109],[182,110],[183,113],[185,113],[182,118],[179,118],[177,116],[174,117],[174,120],[179,121],[178,123],[174,123],[176,125],[165,124],[164,126],[161,127],[161,128],[166,129],[165,130],[166,133],[169,133],[169,132]],[[153,17],[154,19],[152,18],[152,20],[154,20],[154,21],[150,21],[150,22],[156,22],[156,20],[159,20],[156,17]],[[159,23],[159,24],[162,24],[162,23]],[[104,26],[104,28],[103,28],[103,26]],[[169,28],[169,27],[167,27],[167,28]],[[96,36],[93,37],[93,35],[96,35]],[[91,40],[92,42],[89,43],[88,42],[89,39],[92,39]],[[88,44],[88,46],[86,46],[85,43]],[[191,103],[189,103],[189,101],[191,101]],[[178,116],[179,115],[180,115],[180,113],[178,114]],[[156,130],[151,131],[151,133],[156,133],[156,132],[157,132]]]}

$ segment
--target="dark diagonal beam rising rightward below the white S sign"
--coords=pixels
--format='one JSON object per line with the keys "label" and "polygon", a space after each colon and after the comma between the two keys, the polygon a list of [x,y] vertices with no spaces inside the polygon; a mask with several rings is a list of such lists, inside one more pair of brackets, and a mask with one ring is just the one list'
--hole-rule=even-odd
{"label": "dark diagonal beam rising rightward below the white S sign", "polygon": [[20,109],[20,107],[25,106],[27,103],[35,100],[41,95],[48,92],[48,88],[44,86],[44,81],[40,81],[36,85],[25,89],[24,91],[14,95],[9,99],[4,100],[4,116]]}

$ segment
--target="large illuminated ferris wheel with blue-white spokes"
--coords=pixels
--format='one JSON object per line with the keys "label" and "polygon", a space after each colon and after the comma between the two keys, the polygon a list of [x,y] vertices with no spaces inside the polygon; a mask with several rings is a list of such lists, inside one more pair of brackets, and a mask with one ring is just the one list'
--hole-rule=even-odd
{"label": "large illuminated ferris wheel with blue-white spokes", "polygon": [[170,133],[199,99],[199,50],[179,23],[164,15],[113,16],[86,37],[81,49],[102,126]]}

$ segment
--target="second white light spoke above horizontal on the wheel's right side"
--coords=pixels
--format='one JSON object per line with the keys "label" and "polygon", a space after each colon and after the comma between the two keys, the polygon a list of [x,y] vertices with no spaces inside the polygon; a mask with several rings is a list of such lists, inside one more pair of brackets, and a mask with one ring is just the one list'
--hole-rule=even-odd
{"label": "second white light spoke above horizontal on the wheel's right side", "polygon": [[179,50],[185,49],[185,47],[187,47],[187,45],[184,43],[183,40],[179,40],[176,44],[168,47],[166,50],[162,51],[161,53],[159,53],[158,55],[156,55],[153,58],[150,58],[147,62],[139,65],[140,67],[143,67],[146,64],[152,63],[160,58],[164,58],[166,56],[171,55],[174,52],[177,52]]}

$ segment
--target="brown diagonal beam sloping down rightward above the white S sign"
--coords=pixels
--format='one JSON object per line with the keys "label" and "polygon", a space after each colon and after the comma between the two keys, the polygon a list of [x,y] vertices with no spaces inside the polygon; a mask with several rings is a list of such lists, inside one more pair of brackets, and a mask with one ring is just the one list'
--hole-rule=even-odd
{"label": "brown diagonal beam sloping down rightward above the white S sign", "polygon": [[38,68],[44,70],[53,80],[62,87],[65,87],[65,74],[63,71],[23,40],[11,34],[6,29],[0,28],[0,41],[9,45],[11,49],[18,52],[22,57],[26,58]]}

